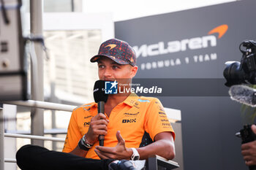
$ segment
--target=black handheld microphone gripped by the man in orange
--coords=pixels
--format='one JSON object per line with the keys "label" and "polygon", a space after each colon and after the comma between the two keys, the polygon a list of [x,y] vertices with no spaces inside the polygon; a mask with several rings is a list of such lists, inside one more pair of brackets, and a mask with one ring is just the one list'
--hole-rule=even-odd
{"label": "black handheld microphone gripped by the man in orange", "polygon": [[[108,95],[105,94],[105,81],[97,80],[94,84],[94,101],[98,104],[98,114],[105,113],[105,102],[108,100]],[[99,146],[104,145],[104,135],[99,135]]]}

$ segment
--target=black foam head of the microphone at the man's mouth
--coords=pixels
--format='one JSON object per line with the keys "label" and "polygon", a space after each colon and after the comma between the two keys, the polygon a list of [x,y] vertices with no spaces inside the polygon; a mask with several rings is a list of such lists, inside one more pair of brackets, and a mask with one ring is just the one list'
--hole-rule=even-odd
{"label": "black foam head of the microphone at the man's mouth", "polygon": [[108,100],[108,95],[105,94],[105,81],[97,80],[94,84],[94,101],[98,103],[99,101],[106,102]]}

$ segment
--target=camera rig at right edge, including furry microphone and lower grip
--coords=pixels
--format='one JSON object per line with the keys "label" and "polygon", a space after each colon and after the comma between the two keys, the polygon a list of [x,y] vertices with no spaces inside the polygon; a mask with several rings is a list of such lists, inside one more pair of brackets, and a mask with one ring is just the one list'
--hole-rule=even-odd
{"label": "camera rig at right edge, including furry microphone and lower grip", "polygon": [[[241,51],[242,58],[241,62],[238,61],[227,61],[226,67],[224,69],[223,75],[227,82],[225,85],[230,87],[232,85],[238,85],[236,88],[236,93],[238,96],[235,98],[240,98],[241,100],[253,100],[256,93],[255,89],[250,88],[246,90],[244,86],[239,86],[240,84],[256,84],[256,42],[253,40],[246,40],[239,45],[239,50]],[[251,96],[247,96],[252,92]],[[239,100],[236,100],[239,101]],[[241,101],[239,101],[241,102]],[[242,102],[243,103],[243,102]],[[249,102],[251,103],[251,102]],[[253,103],[253,102],[252,102]],[[241,143],[248,143],[256,140],[256,135],[253,133],[252,125],[244,125],[244,128],[240,132],[236,133],[236,136],[241,137]],[[250,170],[255,170],[255,166],[249,166]]]}

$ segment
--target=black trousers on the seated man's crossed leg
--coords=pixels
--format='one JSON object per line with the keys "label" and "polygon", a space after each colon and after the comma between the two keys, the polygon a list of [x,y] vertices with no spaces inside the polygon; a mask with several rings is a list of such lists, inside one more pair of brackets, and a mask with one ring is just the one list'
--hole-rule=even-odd
{"label": "black trousers on the seated man's crossed leg", "polygon": [[21,147],[16,159],[22,170],[107,170],[108,164],[113,161],[82,158],[31,144]]}

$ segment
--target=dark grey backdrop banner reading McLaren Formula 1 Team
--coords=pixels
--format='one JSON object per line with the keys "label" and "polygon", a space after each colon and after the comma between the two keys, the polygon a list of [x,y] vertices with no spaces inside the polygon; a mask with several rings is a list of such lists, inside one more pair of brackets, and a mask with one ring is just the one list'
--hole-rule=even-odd
{"label": "dark grey backdrop banner reading McLaren Formula 1 Team", "polygon": [[[256,1],[235,1],[115,23],[116,38],[137,54],[138,82],[154,86],[159,79],[176,91],[156,96],[164,107],[181,109],[185,170],[247,169],[235,134],[252,122],[230,100],[222,73],[226,61],[241,60],[241,42],[256,40],[255,7]],[[222,94],[207,95],[215,85],[203,80],[219,80]],[[193,93],[178,95],[187,89]]]}

